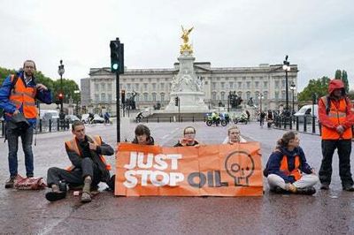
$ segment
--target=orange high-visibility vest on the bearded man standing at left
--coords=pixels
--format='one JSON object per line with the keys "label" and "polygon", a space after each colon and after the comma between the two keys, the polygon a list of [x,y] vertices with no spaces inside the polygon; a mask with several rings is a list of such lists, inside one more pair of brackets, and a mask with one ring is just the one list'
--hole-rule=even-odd
{"label": "orange high-visibility vest on the bearded man standing at left", "polygon": [[[11,81],[13,81],[13,78],[14,75],[12,75]],[[23,115],[26,118],[36,118],[38,114],[37,107],[35,106],[36,92],[35,87],[26,87],[23,80],[19,78],[12,89],[9,100],[16,105],[17,110],[22,106]]]}

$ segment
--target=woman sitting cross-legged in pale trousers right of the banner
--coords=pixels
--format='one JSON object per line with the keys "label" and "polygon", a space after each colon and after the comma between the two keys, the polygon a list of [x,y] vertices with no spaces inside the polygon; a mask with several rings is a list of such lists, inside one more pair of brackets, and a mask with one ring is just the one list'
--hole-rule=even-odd
{"label": "woman sitting cross-legged in pale trousers right of the banner", "polygon": [[294,132],[284,133],[270,155],[264,175],[274,193],[298,193],[312,195],[319,182],[313,168],[306,163],[300,140]]}

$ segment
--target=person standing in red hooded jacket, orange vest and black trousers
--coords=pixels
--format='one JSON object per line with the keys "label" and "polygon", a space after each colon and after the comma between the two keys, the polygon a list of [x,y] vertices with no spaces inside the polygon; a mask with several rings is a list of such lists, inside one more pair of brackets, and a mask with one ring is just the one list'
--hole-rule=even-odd
{"label": "person standing in red hooded jacket, orange vest and black trousers", "polygon": [[332,159],[335,148],[339,156],[339,175],[342,190],[354,192],[350,172],[350,152],[354,114],[350,100],[345,95],[342,80],[331,80],[328,94],[319,99],[319,123],[322,137],[322,163],[319,169],[321,189],[329,189],[332,177]]}

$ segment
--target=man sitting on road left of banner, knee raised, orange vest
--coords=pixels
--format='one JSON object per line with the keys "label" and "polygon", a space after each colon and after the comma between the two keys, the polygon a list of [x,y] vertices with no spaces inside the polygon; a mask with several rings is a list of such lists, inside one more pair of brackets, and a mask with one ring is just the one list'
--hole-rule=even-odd
{"label": "man sitting on road left of banner, knee raised, orange vest", "polygon": [[51,167],[47,174],[47,185],[51,191],[45,194],[48,201],[57,201],[65,198],[65,191],[59,189],[60,181],[69,186],[81,186],[82,202],[91,201],[91,187],[100,182],[110,182],[111,165],[105,162],[104,155],[113,155],[111,146],[104,143],[100,136],[85,134],[85,125],[81,121],[74,121],[73,140],[65,142],[66,153],[73,166],[67,170]]}

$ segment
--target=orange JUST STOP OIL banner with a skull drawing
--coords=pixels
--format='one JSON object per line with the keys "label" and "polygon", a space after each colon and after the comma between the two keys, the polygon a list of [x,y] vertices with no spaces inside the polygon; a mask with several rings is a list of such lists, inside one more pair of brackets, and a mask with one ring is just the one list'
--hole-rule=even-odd
{"label": "orange JUST STOP OIL banner with a skull drawing", "polygon": [[260,145],[165,148],[119,143],[114,194],[261,196]]}

